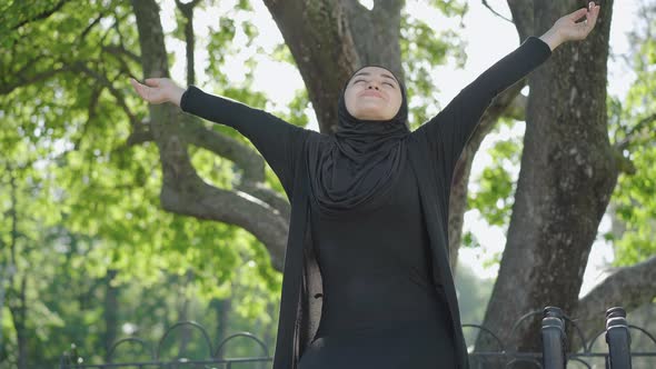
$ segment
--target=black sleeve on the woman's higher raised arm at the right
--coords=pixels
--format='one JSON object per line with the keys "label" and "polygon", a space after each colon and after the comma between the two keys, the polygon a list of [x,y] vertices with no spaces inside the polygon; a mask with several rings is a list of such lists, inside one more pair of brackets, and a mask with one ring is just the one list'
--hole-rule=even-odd
{"label": "black sleeve on the woman's higher raised arm at the right", "polygon": [[491,100],[551,54],[549,46],[536,37],[528,37],[517,49],[485,70],[465,87],[437,116],[413,132],[425,136],[436,159],[443,160],[441,173],[450,183],[453,170],[467,140]]}

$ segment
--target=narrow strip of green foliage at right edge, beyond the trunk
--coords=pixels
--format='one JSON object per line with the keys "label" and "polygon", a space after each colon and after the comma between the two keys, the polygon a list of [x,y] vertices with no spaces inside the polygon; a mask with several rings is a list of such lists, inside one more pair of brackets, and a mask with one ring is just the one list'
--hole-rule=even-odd
{"label": "narrow strip of green foliage at right edge, beyond the trunk", "polygon": [[616,263],[632,265],[656,255],[656,2],[643,4],[642,20],[630,34],[630,67],[635,79],[624,101],[614,99],[609,111],[616,144],[625,144],[623,156],[635,172],[620,174],[613,195],[616,230]]}

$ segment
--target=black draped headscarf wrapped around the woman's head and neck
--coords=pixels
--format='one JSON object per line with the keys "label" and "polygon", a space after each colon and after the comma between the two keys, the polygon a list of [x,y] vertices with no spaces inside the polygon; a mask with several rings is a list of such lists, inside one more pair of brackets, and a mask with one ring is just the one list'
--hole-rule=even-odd
{"label": "black draped headscarf wrapped around the woman's head and neck", "polygon": [[326,216],[344,217],[382,205],[406,164],[405,138],[410,130],[405,87],[397,78],[401,106],[394,118],[357,119],[346,109],[345,91],[358,71],[339,96],[338,128],[330,144],[309,148],[311,205]]}

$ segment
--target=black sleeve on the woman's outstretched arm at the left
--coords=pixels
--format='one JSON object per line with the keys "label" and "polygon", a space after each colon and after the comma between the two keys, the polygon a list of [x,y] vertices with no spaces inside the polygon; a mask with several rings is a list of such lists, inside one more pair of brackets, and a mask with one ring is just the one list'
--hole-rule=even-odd
{"label": "black sleeve on the woman's outstretched arm at the left", "polygon": [[294,171],[302,141],[310,131],[264,110],[203,92],[195,86],[182,93],[182,111],[235,128],[248,138],[269,163],[287,196],[291,197]]}

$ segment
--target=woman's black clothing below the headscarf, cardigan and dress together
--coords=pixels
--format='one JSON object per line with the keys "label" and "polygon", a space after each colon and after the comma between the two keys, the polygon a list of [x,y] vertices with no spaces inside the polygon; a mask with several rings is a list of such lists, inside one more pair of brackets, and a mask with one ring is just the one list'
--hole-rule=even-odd
{"label": "woman's black clothing below the headscarf, cardigan and dress together", "polygon": [[[307,260],[301,260],[305,202],[292,202],[287,243],[287,250],[292,251],[286,253],[274,369],[468,368],[446,255],[454,169],[494,97],[550,54],[544,41],[528,37],[413,131],[408,137],[413,142],[406,147],[419,172],[410,173],[410,166],[405,166],[392,193],[387,195],[389,201],[380,208],[349,221],[321,219],[310,207],[309,223],[325,293],[320,319],[311,309],[314,295],[300,288],[300,277],[312,285],[318,276],[307,273]],[[299,158],[306,154],[302,148],[307,142],[324,141],[320,133],[193,86],[182,94],[180,107],[237,129],[265,157],[290,200],[302,193],[296,188],[301,182],[295,180],[295,173],[304,169],[296,163],[302,162]],[[416,176],[421,176],[418,182]],[[426,257],[429,246],[436,252],[433,259]],[[434,277],[440,277],[434,278],[433,285],[428,260],[441,263],[434,270]],[[448,313],[451,320],[445,321]],[[307,332],[315,319],[319,329],[312,336]]]}

